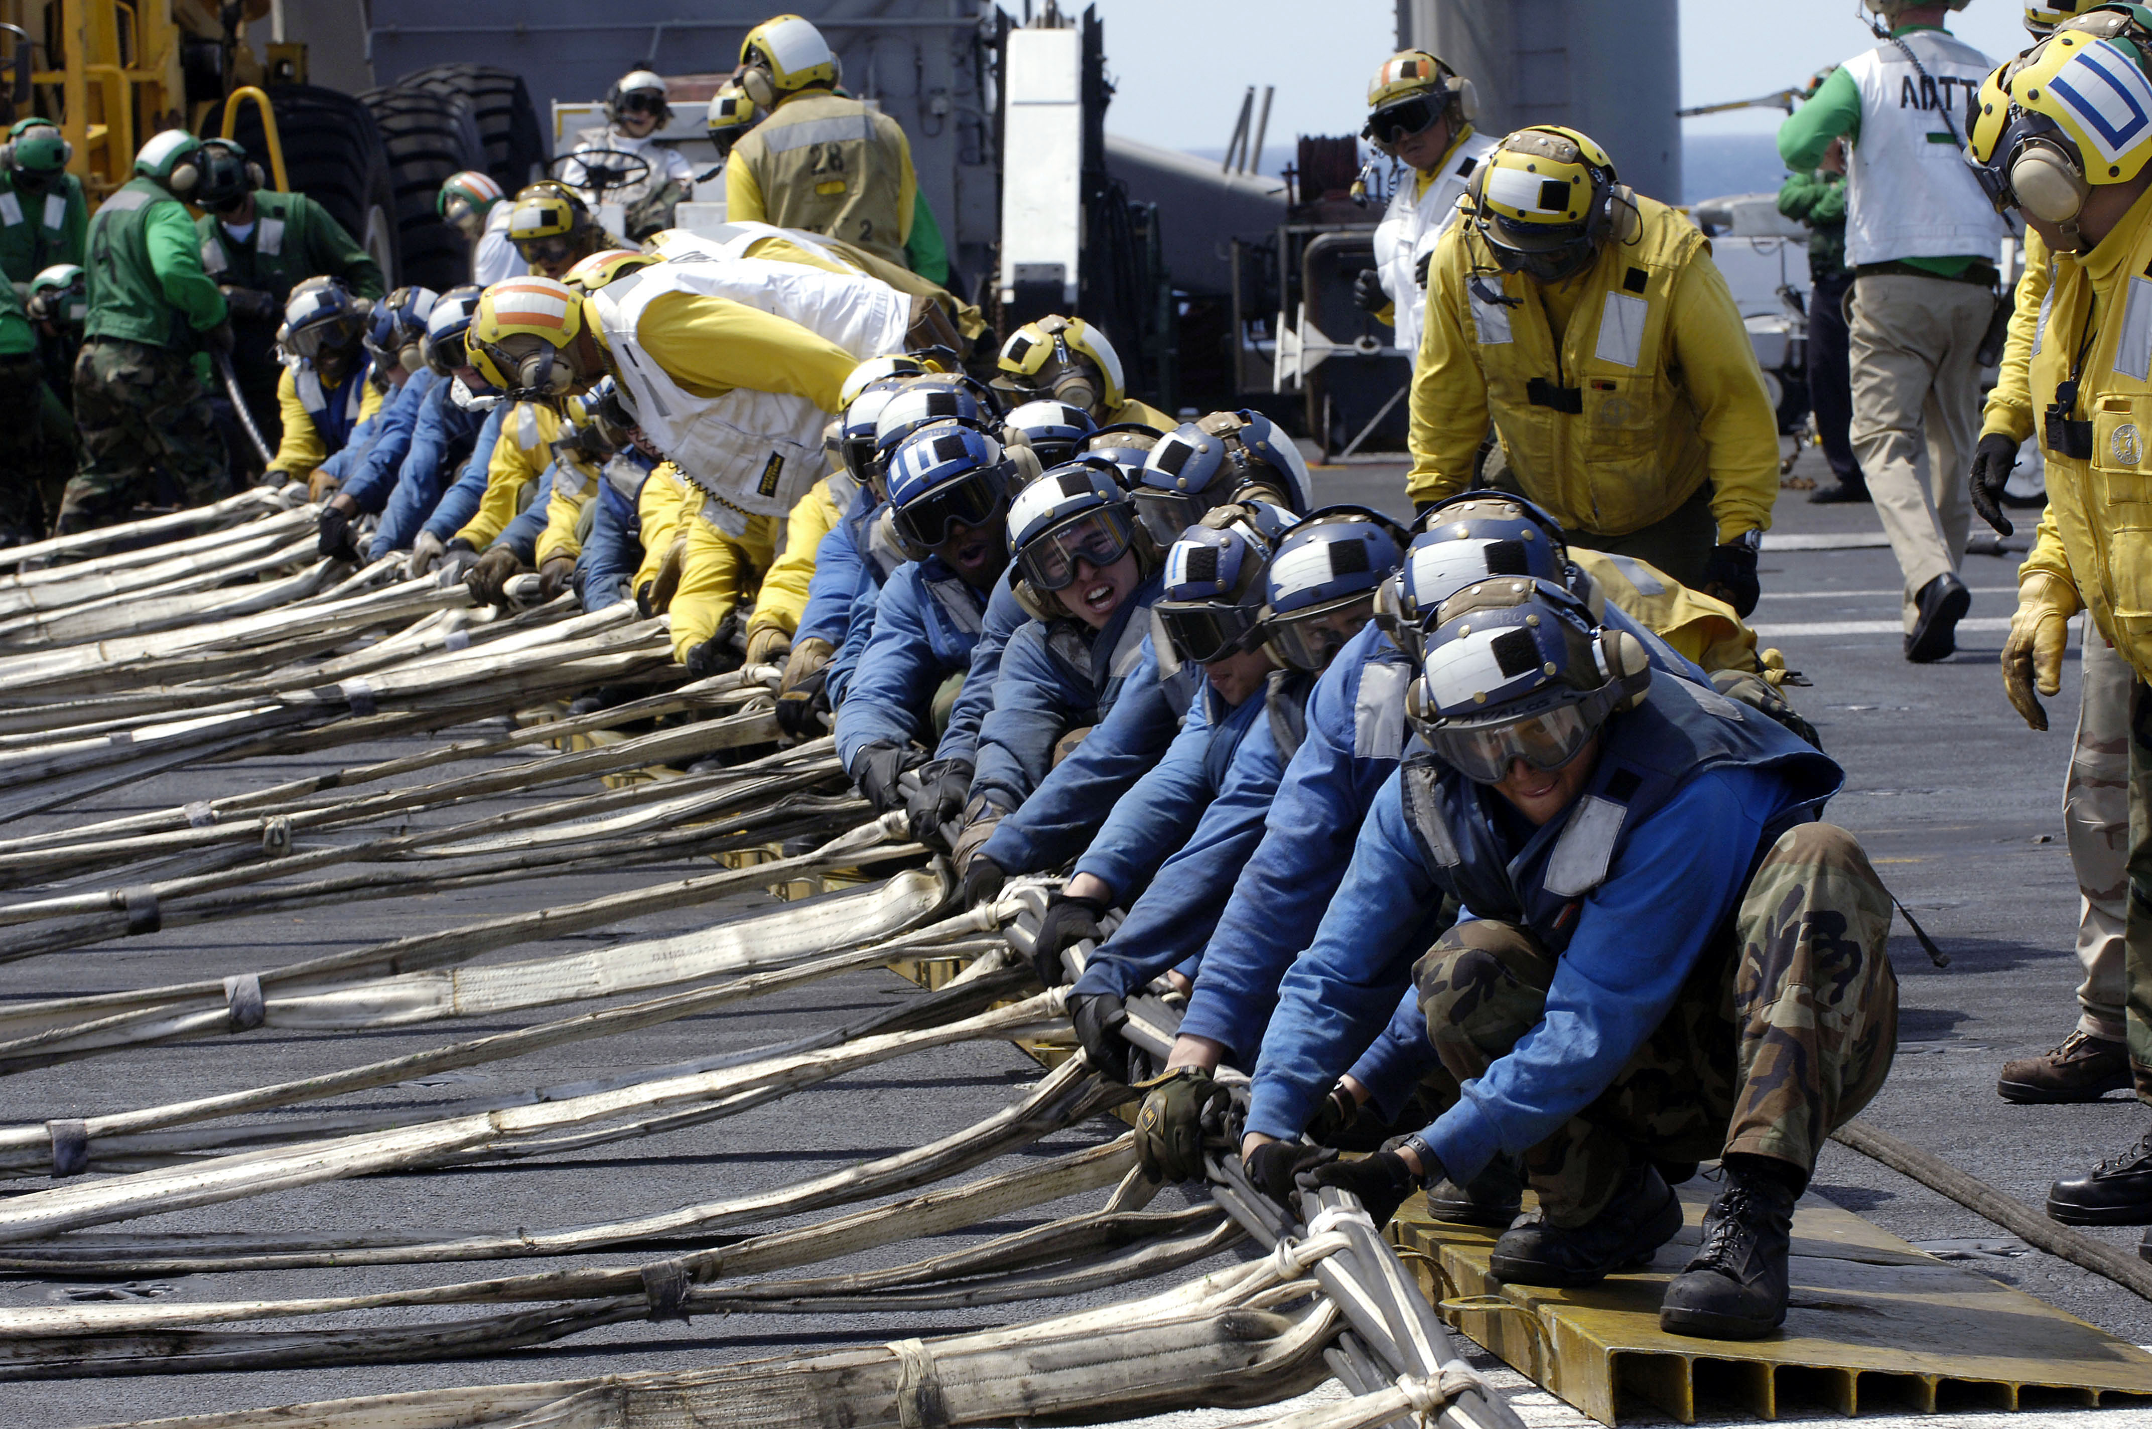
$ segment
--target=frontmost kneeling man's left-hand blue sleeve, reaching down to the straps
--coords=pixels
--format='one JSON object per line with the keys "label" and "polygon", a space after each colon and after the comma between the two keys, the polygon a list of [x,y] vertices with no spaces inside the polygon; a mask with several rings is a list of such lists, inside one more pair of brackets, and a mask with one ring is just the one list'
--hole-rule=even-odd
{"label": "frontmost kneeling man's left-hand blue sleeve, reaching down to the straps", "polygon": [[1440,921],[1442,885],[1405,822],[1401,775],[1390,770],[1315,940],[1278,981],[1248,1093],[1250,1132],[1291,1138],[1306,1128],[1339,1074],[1390,1022]]}

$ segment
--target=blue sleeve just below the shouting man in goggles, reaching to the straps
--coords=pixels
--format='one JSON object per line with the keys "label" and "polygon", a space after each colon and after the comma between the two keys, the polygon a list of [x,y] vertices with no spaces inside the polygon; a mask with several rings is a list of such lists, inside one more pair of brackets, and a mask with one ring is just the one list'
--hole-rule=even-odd
{"label": "blue sleeve just below the shouting man in goggles, reaching to the straps", "polygon": [[[999,712],[999,691],[994,702]],[[988,714],[988,723],[992,719]],[[1080,717],[1065,717],[1046,740],[1048,751],[1076,723],[1082,723]],[[1039,779],[1016,813],[1001,820],[986,841],[986,857],[1011,874],[1031,874],[1080,854],[1106,813],[1164,758],[1177,727],[1179,714],[1158,680],[1158,656],[1145,635],[1143,659],[1121,682],[1106,719]]]}

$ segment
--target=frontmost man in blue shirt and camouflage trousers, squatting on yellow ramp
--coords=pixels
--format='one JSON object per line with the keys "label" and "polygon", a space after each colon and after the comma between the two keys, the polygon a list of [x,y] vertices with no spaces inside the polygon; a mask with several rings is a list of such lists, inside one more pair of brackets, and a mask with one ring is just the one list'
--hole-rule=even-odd
{"label": "frontmost man in blue shirt and camouflage trousers, squatting on yellow ramp", "polygon": [[[1681,1229],[1659,1169],[1717,1156],[1724,1190],[1659,1321],[1769,1334],[1795,1197],[1896,1048],[1889,895],[1853,835],[1816,822],[1838,764],[1653,678],[1633,635],[1552,581],[1444,600],[1405,712],[1418,740],[1278,990],[1250,1175],[1280,1199],[1302,1175],[1343,1186],[1388,1220],[1422,1184],[1517,1156],[1539,1216],[1502,1235],[1493,1272],[1575,1287],[1651,1261]],[[1420,956],[1412,930],[1444,895],[1463,915]],[[1293,1138],[1407,968],[1455,1102],[1386,1151],[1319,1164]]]}

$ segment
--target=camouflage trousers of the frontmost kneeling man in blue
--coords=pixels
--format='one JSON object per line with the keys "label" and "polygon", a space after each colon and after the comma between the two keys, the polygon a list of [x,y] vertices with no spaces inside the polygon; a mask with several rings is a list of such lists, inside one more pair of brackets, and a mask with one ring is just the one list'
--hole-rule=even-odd
{"label": "camouflage trousers of the frontmost kneeling man in blue", "polygon": [[[1614,1080],[1524,1154],[1541,1214],[1592,1220],[1638,1158],[1728,1151],[1803,1173],[1883,1087],[1898,1048],[1889,893],[1844,829],[1799,824],[1762,857],[1672,1009]],[[1427,1035],[1481,1076],[1547,1007],[1558,958],[1513,925],[1457,923],[1414,968]]]}

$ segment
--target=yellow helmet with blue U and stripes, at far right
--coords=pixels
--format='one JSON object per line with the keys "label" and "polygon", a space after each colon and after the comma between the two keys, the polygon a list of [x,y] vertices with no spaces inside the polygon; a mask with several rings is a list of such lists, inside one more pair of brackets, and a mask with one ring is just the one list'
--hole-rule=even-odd
{"label": "yellow helmet with blue U and stripes, at far right", "polygon": [[2066,22],[1991,73],[1973,101],[1965,157],[1997,209],[2055,224],[2103,183],[2128,183],[2152,159],[2152,13],[2100,6]]}

